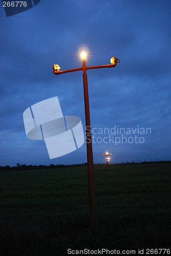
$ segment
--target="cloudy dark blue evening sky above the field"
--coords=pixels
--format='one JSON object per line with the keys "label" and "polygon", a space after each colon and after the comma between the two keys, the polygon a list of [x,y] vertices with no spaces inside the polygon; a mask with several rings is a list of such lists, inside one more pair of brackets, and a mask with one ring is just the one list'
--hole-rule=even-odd
{"label": "cloudy dark blue evening sky above the field", "polygon": [[111,163],[171,160],[170,0],[41,0],[9,17],[0,6],[0,165],[87,162],[86,143],[50,160],[45,141],[29,140],[23,122],[29,106],[58,96],[63,115],[80,117],[85,132],[82,71],[55,76],[52,69],[81,67],[80,49],[87,66],[120,59],[87,72],[95,163],[106,151]]}

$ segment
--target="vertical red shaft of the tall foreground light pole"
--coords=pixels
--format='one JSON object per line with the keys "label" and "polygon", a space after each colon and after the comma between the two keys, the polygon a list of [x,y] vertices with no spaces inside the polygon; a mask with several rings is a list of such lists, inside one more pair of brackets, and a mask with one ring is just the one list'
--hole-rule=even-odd
{"label": "vertical red shaft of the tall foreground light pole", "polygon": [[85,60],[83,60],[83,88],[84,88],[84,105],[85,105],[85,114],[86,114],[86,142],[87,142],[87,160],[88,160],[90,221],[93,227],[97,227],[97,209],[96,209],[96,193],[95,193],[94,168],[93,168],[92,135],[91,135],[91,125],[90,125],[89,92],[88,92],[88,79],[86,74]]}

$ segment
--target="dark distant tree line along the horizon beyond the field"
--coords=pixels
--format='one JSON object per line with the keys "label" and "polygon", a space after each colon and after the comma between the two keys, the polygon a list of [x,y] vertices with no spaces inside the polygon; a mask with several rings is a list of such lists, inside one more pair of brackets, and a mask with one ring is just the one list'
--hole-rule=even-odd
{"label": "dark distant tree line along the horizon beyond the field", "polygon": [[[171,161],[149,161],[149,162],[126,162],[126,163],[121,163],[121,164],[161,164],[161,163],[171,163]],[[119,163],[116,163],[119,164]],[[26,164],[20,164],[17,163],[16,166],[10,167],[9,165],[1,166],[0,165],[0,172],[11,172],[11,171],[20,171],[20,170],[33,170],[33,169],[49,169],[49,168],[63,168],[63,167],[75,167],[75,166],[84,166],[87,165],[87,163],[82,163],[82,164],[50,164],[50,165],[26,165]],[[95,163],[94,163],[95,165]],[[96,165],[106,165],[106,163],[97,163]]]}

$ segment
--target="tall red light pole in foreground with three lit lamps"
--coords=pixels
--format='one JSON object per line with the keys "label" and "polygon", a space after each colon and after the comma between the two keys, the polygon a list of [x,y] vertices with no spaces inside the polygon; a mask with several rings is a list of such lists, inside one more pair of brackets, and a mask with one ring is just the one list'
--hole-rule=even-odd
{"label": "tall red light pole in foreground with three lit lamps", "polygon": [[83,71],[83,90],[84,90],[84,105],[86,115],[86,142],[87,142],[87,162],[88,162],[88,180],[89,180],[89,204],[90,204],[90,221],[94,227],[97,227],[97,209],[96,209],[96,193],[95,193],[95,182],[94,182],[94,170],[93,170],[93,150],[92,150],[92,135],[90,125],[90,108],[89,108],[89,92],[88,92],[88,79],[86,71],[88,69],[99,69],[99,68],[113,68],[116,66],[119,59],[116,57],[111,58],[110,65],[101,66],[86,66],[86,52],[81,53],[82,67],[77,69],[63,70],[60,71],[60,66],[57,64],[53,65],[53,72],[55,75],[63,73]]}

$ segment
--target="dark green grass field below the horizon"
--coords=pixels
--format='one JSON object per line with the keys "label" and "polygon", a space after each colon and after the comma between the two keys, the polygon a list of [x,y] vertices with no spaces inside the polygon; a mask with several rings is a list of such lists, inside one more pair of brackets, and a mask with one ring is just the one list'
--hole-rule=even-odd
{"label": "dark green grass field below the horizon", "polygon": [[0,255],[169,248],[170,167],[96,165],[95,231],[89,225],[87,166],[0,173]]}

